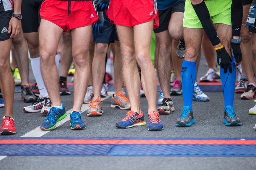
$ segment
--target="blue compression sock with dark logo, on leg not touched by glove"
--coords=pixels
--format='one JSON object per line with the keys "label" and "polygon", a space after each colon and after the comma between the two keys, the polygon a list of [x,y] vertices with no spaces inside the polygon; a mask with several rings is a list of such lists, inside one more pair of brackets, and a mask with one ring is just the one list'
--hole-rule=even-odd
{"label": "blue compression sock with dark logo, on leg not touched by glove", "polygon": [[194,84],[196,81],[196,62],[184,60],[181,68],[181,82],[184,106],[192,109]]}

